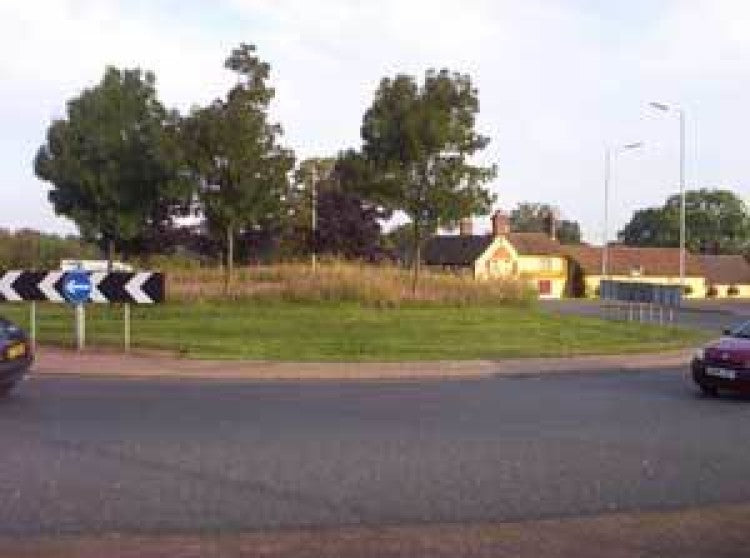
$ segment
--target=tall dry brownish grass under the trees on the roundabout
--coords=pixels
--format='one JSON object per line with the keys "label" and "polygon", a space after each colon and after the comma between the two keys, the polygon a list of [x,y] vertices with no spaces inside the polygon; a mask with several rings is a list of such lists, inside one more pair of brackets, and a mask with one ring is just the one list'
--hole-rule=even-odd
{"label": "tall dry brownish grass under the trees on the roundabout", "polygon": [[[225,300],[221,269],[167,271],[172,300]],[[449,305],[530,304],[535,293],[518,280],[476,281],[470,276],[425,271],[412,293],[409,270],[351,262],[253,266],[236,271],[232,299],[293,302],[359,302],[399,306],[410,302]]]}

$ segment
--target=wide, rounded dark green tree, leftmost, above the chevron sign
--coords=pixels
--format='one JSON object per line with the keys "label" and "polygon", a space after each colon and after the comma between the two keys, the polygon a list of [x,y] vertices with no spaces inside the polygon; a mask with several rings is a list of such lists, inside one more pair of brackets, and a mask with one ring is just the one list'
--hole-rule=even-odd
{"label": "wide, rounded dark green tree, leftmost, above the chevron sign", "polygon": [[159,102],[155,83],[150,72],[107,68],[98,85],[68,102],[34,161],[37,176],[52,184],[55,211],[106,247],[110,262],[116,246],[138,236],[159,203],[184,186],[168,131],[177,116]]}

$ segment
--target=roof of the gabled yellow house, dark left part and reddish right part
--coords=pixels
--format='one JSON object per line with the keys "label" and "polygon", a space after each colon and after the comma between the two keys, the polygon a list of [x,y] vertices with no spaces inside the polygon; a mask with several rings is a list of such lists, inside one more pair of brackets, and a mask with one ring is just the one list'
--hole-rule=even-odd
{"label": "roof of the gabled yellow house, dark left part and reddish right part", "polygon": [[[544,233],[510,233],[508,242],[520,256],[561,256],[560,243]],[[428,265],[474,265],[494,237],[492,235],[433,236],[424,245],[422,259]]]}

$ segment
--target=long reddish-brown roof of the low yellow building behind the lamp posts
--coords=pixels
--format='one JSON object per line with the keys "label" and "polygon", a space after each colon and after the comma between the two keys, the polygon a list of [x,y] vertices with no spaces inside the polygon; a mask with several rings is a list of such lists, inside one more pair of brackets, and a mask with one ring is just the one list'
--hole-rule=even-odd
{"label": "long reddish-brown roof of the low yellow building behind the lamp posts", "polygon": [[[601,275],[601,246],[566,245],[562,248],[585,274]],[[632,275],[636,270],[644,277],[675,277],[680,274],[679,248],[610,246],[608,262],[608,272],[611,275]],[[685,273],[690,277],[704,275],[703,266],[697,256],[690,253],[686,255]]]}

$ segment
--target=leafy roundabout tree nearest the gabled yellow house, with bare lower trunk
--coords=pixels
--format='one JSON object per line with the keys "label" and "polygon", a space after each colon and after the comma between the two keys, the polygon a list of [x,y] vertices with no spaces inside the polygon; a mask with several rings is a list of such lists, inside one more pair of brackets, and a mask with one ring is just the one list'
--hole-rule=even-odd
{"label": "leafy roundabout tree nearest the gabled yellow house, with bare lower trunk", "polygon": [[383,79],[365,113],[362,156],[378,177],[373,197],[411,220],[414,290],[426,234],[491,207],[485,185],[496,169],[471,162],[489,143],[474,129],[478,112],[469,76],[430,70],[422,84],[407,75]]}

